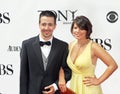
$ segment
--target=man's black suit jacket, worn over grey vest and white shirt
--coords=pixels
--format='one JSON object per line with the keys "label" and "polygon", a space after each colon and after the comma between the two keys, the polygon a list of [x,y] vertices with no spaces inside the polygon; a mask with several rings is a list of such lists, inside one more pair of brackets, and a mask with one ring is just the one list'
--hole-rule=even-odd
{"label": "man's black suit jacket, worn over grey vest and white shirt", "polygon": [[53,38],[48,56],[48,64],[44,70],[39,36],[22,42],[20,52],[20,94],[42,94],[45,86],[57,84],[59,69],[65,71],[66,81],[70,80],[71,70],[67,66],[68,44]]}

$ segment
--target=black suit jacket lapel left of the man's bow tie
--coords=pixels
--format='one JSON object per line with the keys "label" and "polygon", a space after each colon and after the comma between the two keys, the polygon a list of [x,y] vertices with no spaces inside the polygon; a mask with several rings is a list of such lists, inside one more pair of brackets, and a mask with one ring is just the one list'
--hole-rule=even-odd
{"label": "black suit jacket lapel left of the man's bow tie", "polygon": [[44,66],[43,66],[43,59],[42,59],[42,53],[41,53],[41,49],[40,49],[40,45],[39,45],[39,36],[36,37],[35,42],[33,42],[33,49],[37,55],[37,58],[39,59],[40,62],[40,68],[42,68],[44,70]]}

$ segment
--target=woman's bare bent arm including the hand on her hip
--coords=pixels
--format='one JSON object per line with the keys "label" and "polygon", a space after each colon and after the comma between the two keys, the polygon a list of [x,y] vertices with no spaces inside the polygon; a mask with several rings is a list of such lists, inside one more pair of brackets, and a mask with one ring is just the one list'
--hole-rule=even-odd
{"label": "woman's bare bent arm including the hand on her hip", "polygon": [[112,75],[112,73],[118,68],[112,56],[109,53],[107,53],[100,45],[98,45],[97,43],[93,43],[92,44],[92,60],[94,61],[93,62],[94,64],[97,62],[97,58],[103,61],[103,63],[107,66],[107,68],[99,78],[85,77],[85,80],[83,82],[87,86],[101,84],[110,75]]}

